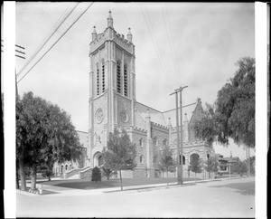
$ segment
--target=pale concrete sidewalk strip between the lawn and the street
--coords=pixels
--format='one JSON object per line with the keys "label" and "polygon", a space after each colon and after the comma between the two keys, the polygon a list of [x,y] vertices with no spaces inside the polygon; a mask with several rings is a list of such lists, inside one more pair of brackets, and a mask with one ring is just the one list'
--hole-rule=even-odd
{"label": "pale concrete sidewalk strip between the lawn and the street", "polygon": [[[136,193],[136,192],[145,192],[151,190],[158,190],[158,189],[166,189],[166,188],[173,188],[178,186],[195,186],[198,183],[208,183],[214,181],[225,181],[225,180],[232,180],[232,179],[239,179],[239,178],[246,178],[247,176],[235,176],[230,178],[216,178],[216,179],[206,179],[206,180],[198,180],[198,181],[186,181],[183,182],[182,185],[177,185],[176,182],[166,183],[163,184],[153,184],[153,185],[143,185],[143,186],[124,186],[123,190],[120,190],[119,187],[110,187],[110,188],[100,188],[100,189],[76,189],[76,188],[67,188],[61,186],[50,186],[50,185],[42,185],[37,182],[36,187],[42,186],[42,195],[95,195],[95,194],[107,194],[107,193],[116,193],[116,192],[128,192],[128,193]],[[26,186],[31,186],[28,182]],[[16,190],[16,193],[22,195],[36,195],[29,192],[24,192],[21,190]]]}

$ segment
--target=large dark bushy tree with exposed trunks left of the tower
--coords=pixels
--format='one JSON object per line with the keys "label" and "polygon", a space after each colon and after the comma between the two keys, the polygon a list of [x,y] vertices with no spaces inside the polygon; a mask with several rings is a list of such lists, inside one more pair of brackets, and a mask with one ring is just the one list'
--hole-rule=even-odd
{"label": "large dark bushy tree with exposed trunks left of the tower", "polygon": [[[24,166],[32,169],[32,189],[35,189],[38,167],[76,160],[80,154],[78,134],[64,110],[34,97],[33,92],[24,93],[22,100],[17,98],[16,156],[21,173]],[[22,184],[23,174],[20,176]]]}

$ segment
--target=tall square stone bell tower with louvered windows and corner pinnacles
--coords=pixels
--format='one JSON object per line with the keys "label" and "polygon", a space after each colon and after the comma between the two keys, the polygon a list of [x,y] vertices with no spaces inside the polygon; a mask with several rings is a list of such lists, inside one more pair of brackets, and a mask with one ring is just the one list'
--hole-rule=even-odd
{"label": "tall square stone bell tower with louvered windows and corner pinnacles", "polygon": [[109,11],[107,28],[93,27],[89,44],[89,150],[90,167],[107,147],[115,128],[135,125],[135,45],[128,28],[126,38],[114,29]]}

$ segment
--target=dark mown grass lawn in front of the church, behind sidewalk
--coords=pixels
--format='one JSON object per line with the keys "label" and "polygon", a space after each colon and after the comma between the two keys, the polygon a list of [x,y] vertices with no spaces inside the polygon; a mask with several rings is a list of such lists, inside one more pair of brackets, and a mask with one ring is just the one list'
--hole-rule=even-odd
{"label": "dark mown grass lawn in front of the church, behind sidewalk", "polygon": [[[184,178],[183,181],[192,181],[195,178]],[[196,179],[199,180],[199,179]],[[124,178],[123,186],[142,186],[142,185],[152,185],[152,184],[164,184],[167,182],[166,178]],[[176,178],[168,178],[169,183],[177,182]],[[119,179],[103,180],[101,182],[95,183],[91,182],[90,179],[68,179],[68,180],[52,180],[52,181],[42,181],[39,182],[42,185],[51,186],[61,186],[68,188],[77,189],[97,189],[97,188],[109,188],[109,187],[119,187]]]}

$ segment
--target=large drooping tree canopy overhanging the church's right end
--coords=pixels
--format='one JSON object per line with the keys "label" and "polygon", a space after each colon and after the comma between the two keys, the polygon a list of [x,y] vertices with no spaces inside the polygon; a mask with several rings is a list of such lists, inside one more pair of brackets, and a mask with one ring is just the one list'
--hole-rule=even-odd
{"label": "large drooping tree canopy overhanging the church's right end", "polygon": [[214,107],[207,104],[204,117],[194,127],[197,138],[212,143],[255,148],[255,59],[241,58],[234,77],[219,90]]}

